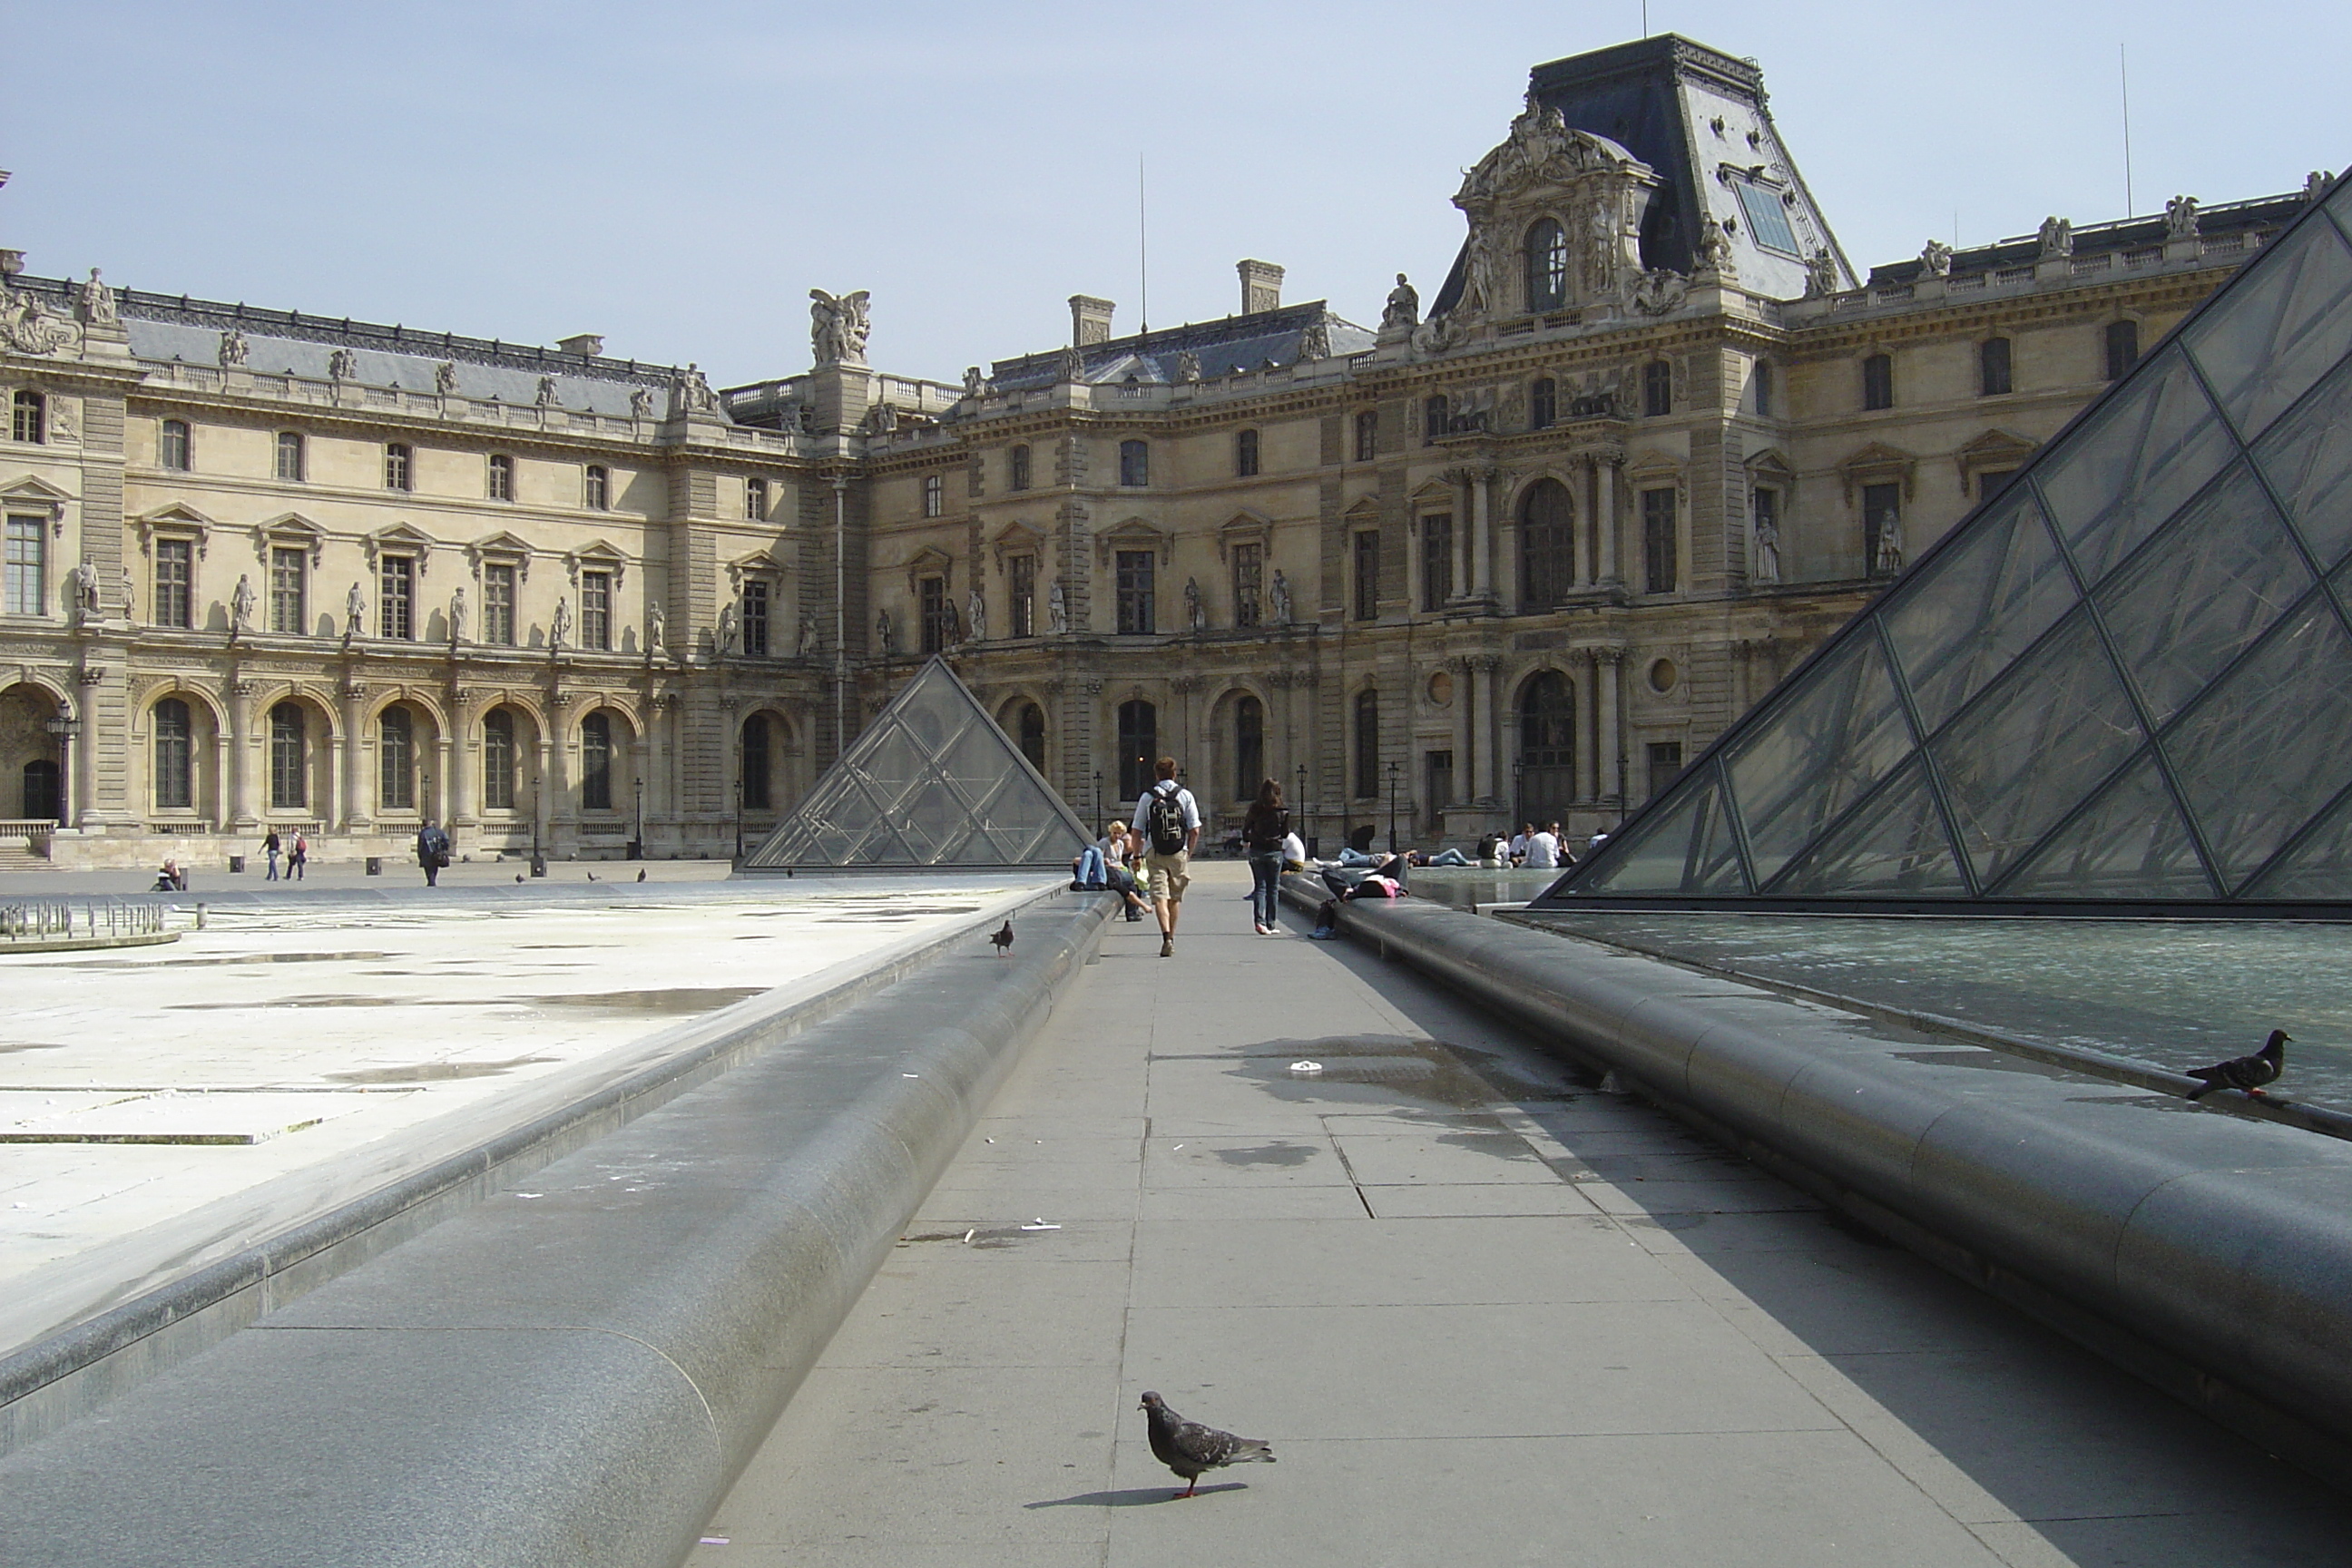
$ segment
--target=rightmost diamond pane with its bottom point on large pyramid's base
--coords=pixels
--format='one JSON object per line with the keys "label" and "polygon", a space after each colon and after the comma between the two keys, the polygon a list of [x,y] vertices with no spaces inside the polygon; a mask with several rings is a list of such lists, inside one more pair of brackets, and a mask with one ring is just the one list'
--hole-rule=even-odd
{"label": "rightmost diamond pane with its bottom point on large pyramid's base", "polygon": [[2164,736],[2234,889],[2352,780],[2352,639],[2314,592]]}

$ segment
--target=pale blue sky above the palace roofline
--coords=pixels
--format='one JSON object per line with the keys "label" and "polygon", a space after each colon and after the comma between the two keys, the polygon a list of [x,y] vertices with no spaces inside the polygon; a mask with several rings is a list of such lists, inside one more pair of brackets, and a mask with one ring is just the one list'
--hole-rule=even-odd
{"label": "pale blue sky above the palace roofline", "polygon": [[[1764,66],[1858,266],[1940,235],[2122,216],[2352,165],[2352,5],[1653,0]],[[873,292],[873,360],[955,378],[1232,310],[1232,263],[1378,317],[1435,292],[1449,197],[1526,68],[1642,33],[1639,0],[898,5],[616,0],[7,7],[0,244],[35,273],[409,327],[807,364],[807,292]]]}

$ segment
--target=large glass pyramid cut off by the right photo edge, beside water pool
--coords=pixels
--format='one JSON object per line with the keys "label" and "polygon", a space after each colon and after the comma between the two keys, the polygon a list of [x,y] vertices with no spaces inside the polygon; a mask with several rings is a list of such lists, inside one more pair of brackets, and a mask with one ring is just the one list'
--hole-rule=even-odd
{"label": "large glass pyramid cut off by the right photo edge, beside water pool", "polygon": [[2352,914],[2347,607],[2352,176],[1536,907]]}

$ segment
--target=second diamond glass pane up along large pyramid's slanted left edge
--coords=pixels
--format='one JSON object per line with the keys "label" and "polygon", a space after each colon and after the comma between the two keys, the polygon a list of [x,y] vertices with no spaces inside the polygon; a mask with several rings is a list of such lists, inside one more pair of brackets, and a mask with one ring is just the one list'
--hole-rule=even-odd
{"label": "second diamond glass pane up along large pyramid's slanted left edge", "polygon": [[2025,484],[2011,484],[1955,548],[1922,562],[1886,607],[1886,637],[1933,733],[2074,609],[2067,576]]}

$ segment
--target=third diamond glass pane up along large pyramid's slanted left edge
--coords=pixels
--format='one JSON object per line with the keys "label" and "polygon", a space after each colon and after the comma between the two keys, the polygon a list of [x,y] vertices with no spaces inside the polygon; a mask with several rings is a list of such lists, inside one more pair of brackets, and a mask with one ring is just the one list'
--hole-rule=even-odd
{"label": "third diamond glass pane up along large pyramid's slanted left edge", "polygon": [[2098,583],[2157,524],[2204,487],[2234,447],[2197,388],[2187,355],[2169,348],[2037,463],[2042,501],[2074,550],[2082,581]]}

